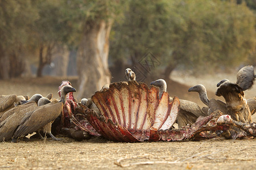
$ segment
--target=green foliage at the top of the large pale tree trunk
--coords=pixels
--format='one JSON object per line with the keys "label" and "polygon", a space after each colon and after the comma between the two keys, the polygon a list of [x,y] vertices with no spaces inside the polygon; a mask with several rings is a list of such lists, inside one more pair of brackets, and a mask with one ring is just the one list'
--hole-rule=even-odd
{"label": "green foliage at the top of the large pale tree trunk", "polygon": [[125,0],[65,0],[60,2],[63,19],[71,26],[69,44],[78,46],[81,35],[101,20],[113,22],[121,18],[128,1]]}

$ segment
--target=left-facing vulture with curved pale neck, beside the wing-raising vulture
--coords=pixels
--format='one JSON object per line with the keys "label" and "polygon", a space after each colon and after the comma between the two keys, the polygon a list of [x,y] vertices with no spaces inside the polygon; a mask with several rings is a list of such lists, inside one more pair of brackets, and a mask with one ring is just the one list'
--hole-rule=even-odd
{"label": "left-facing vulture with curved pale neck, beside the wing-raising vulture", "polygon": [[198,92],[200,100],[207,105],[207,107],[204,107],[205,109],[204,112],[208,112],[208,114],[220,110],[224,114],[228,114],[227,108],[226,108],[226,103],[224,103],[221,100],[216,100],[216,99],[208,99],[207,96],[207,90],[204,87],[203,84],[196,84],[195,86],[191,87],[188,89],[188,92]]}

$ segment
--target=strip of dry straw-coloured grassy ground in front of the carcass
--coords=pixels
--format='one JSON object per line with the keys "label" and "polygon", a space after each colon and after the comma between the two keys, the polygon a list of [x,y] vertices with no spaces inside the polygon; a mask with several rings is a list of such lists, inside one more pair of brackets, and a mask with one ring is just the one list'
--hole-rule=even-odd
{"label": "strip of dry straw-coloured grassy ground in front of the carcass", "polygon": [[0,169],[254,169],[256,141],[75,142],[1,145]]}

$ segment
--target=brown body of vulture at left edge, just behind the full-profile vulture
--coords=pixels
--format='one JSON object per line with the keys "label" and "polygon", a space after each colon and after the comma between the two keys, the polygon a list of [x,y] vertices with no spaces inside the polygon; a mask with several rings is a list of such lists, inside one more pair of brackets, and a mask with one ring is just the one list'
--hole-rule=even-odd
{"label": "brown body of vulture at left edge, just behind the full-profile vulture", "polygon": [[3,115],[5,118],[0,122],[0,142],[11,139],[22,118],[27,112],[33,111],[35,108],[38,108],[38,105],[35,101],[30,101],[29,103],[18,105],[7,111]]}

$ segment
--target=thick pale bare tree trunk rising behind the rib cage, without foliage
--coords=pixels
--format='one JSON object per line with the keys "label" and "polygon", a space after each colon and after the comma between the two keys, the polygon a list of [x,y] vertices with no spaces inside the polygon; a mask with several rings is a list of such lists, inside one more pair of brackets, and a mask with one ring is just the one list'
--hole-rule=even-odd
{"label": "thick pale bare tree trunk rising behind the rib cage, without foliage", "polygon": [[110,83],[108,65],[109,33],[112,22],[101,20],[85,25],[84,35],[77,53],[79,90],[77,98],[90,97],[104,84]]}

